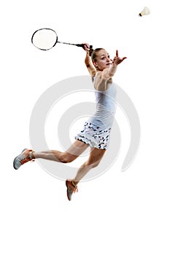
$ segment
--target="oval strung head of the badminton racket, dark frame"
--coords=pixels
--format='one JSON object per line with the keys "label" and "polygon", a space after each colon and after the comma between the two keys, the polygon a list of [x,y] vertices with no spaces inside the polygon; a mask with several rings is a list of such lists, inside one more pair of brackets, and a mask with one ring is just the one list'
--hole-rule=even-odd
{"label": "oval strung head of the badminton racket, dark frame", "polygon": [[31,42],[39,50],[50,50],[58,42],[58,35],[53,29],[37,29],[31,37]]}

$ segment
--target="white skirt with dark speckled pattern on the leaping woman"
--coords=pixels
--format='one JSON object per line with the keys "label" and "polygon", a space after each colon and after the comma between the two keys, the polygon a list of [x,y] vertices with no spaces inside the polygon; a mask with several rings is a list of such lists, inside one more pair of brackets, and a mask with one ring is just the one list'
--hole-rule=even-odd
{"label": "white skirt with dark speckled pattern on the leaping woman", "polygon": [[92,148],[107,149],[110,131],[111,128],[101,129],[95,124],[85,122],[84,129],[75,136],[75,139],[88,144]]}

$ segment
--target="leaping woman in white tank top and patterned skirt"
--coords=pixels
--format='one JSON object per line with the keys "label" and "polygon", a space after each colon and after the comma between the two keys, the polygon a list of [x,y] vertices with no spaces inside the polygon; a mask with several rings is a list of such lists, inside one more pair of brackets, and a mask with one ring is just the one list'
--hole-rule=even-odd
{"label": "leaping woman in white tank top and patterned skirt", "polygon": [[24,149],[18,157],[15,157],[13,166],[16,170],[31,160],[42,158],[56,162],[68,163],[90,146],[88,160],[79,168],[73,179],[66,180],[67,197],[72,199],[72,194],[77,192],[77,184],[88,171],[96,167],[104,156],[109,146],[109,134],[115,116],[116,85],[112,82],[117,65],[126,57],[120,58],[118,51],[112,60],[103,48],[90,49],[87,43],[83,43],[86,51],[85,65],[93,81],[96,96],[96,113],[85,122],[84,129],[75,137],[75,141],[65,152],[50,150],[34,152]]}

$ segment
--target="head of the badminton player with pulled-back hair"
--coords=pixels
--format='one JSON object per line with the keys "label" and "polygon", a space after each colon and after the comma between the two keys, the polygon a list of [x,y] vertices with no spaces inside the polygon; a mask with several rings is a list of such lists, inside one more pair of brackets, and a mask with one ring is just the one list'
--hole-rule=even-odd
{"label": "head of the badminton player with pulled-back hair", "polygon": [[106,50],[102,49],[99,50],[98,53],[96,53],[96,61],[93,62],[96,69],[102,71],[106,68],[109,68],[111,63],[112,60],[110,59],[109,53],[107,53]]}

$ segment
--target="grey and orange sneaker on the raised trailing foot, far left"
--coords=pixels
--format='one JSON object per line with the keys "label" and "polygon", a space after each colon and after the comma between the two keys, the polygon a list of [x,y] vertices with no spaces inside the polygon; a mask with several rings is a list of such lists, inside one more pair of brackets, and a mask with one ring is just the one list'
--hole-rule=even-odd
{"label": "grey and orange sneaker on the raised trailing foot, far left", "polygon": [[31,149],[24,148],[23,151],[17,157],[15,157],[13,161],[13,167],[15,168],[15,170],[18,170],[19,167],[26,162],[34,160],[31,157],[32,152],[33,151]]}

